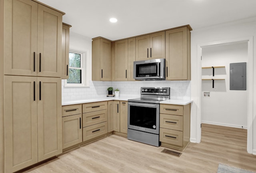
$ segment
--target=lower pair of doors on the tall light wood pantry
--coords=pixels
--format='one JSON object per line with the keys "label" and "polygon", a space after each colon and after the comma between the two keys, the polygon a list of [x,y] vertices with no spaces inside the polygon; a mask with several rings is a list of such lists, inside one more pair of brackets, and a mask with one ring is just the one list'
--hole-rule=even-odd
{"label": "lower pair of doors on the tall light wood pantry", "polygon": [[4,169],[62,153],[61,79],[4,76]]}

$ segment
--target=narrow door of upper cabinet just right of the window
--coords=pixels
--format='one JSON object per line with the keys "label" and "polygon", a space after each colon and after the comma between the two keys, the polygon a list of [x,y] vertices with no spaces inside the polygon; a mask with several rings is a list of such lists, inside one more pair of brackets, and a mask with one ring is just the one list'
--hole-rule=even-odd
{"label": "narrow door of upper cabinet just right of the window", "polygon": [[112,80],[112,52],[111,42],[108,40],[100,39],[100,70],[102,81]]}

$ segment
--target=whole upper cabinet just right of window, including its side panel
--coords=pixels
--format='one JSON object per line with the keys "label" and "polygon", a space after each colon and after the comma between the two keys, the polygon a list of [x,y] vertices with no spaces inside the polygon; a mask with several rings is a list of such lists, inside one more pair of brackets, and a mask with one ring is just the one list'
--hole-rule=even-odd
{"label": "whole upper cabinet just right of window, including its side panel", "polygon": [[92,39],[92,80],[112,80],[112,42],[103,38]]}

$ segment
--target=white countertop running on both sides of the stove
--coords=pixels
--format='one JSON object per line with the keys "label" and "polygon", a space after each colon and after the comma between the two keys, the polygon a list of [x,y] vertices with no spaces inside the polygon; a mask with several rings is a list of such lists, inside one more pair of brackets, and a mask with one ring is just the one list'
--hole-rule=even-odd
{"label": "white countertop running on both sides of the stove", "polygon": [[[95,99],[65,100],[65,101],[62,101],[62,106],[75,105],[75,104],[81,104],[81,103],[92,103],[92,102],[98,102],[98,101],[109,101],[109,100],[128,101],[128,99],[134,99],[134,97],[100,97]],[[165,101],[160,101],[160,103],[171,104],[171,105],[187,105],[192,102],[193,100],[180,100],[180,99],[168,99]]]}

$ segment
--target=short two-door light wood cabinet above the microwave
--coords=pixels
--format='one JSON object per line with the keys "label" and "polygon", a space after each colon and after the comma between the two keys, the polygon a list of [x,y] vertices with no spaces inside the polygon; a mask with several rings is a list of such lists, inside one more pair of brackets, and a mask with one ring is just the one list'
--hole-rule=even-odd
{"label": "short two-door light wood cabinet above the microwave", "polygon": [[165,32],[136,37],[136,61],[165,58]]}

